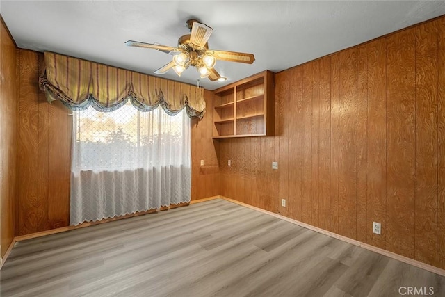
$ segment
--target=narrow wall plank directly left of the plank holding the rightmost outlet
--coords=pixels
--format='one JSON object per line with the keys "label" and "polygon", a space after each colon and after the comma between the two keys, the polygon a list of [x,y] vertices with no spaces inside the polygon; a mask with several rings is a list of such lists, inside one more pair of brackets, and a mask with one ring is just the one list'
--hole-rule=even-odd
{"label": "narrow wall plank directly left of the plank holding the rightmost outlet", "polygon": [[366,45],[357,48],[357,240],[366,242],[366,181],[368,136],[368,53]]}

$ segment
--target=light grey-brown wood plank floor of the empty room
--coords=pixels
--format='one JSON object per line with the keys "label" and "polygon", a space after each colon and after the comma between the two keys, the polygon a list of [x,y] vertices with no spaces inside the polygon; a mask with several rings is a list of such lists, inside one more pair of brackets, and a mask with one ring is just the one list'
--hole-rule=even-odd
{"label": "light grey-brown wood plank floor of the empty room", "polygon": [[219,199],[18,242],[0,284],[2,297],[445,296],[444,277]]}

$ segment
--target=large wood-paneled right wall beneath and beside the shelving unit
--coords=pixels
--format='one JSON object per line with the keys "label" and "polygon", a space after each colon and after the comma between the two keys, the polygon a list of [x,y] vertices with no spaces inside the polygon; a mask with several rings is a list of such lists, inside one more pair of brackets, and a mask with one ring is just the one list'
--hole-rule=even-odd
{"label": "large wood-paneled right wall beneath and beside the shelving unit", "polygon": [[275,137],[220,141],[221,194],[445,268],[444,40],[442,17],[276,74]]}

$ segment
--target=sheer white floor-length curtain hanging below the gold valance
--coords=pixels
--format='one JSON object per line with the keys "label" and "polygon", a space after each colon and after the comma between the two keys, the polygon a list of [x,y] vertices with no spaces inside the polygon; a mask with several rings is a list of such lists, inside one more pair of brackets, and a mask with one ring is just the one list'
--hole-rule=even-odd
{"label": "sheer white floor-length curtain hanging below the gold valance", "polygon": [[70,225],[190,201],[185,109],[73,112]]}

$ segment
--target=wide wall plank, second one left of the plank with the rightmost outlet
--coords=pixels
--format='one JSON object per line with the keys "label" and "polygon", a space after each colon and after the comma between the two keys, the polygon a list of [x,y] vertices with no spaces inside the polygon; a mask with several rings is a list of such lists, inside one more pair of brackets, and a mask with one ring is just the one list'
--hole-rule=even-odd
{"label": "wide wall plank, second one left of the plank with the rightmost outlet", "polygon": [[357,51],[339,54],[339,234],[357,236]]}

